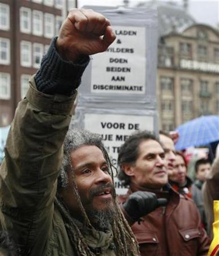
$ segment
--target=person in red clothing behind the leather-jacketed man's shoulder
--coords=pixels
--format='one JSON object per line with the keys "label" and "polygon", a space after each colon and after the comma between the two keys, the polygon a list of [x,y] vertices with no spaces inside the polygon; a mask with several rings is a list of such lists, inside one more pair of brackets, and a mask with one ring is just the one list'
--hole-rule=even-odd
{"label": "person in red clothing behind the leather-jacketed man's shoulder", "polygon": [[174,161],[174,168],[172,175],[169,176],[169,182],[175,191],[182,195],[192,198],[191,188],[192,180],[187,176],[187,163],[183,154],[176,151],[176,159]]}

